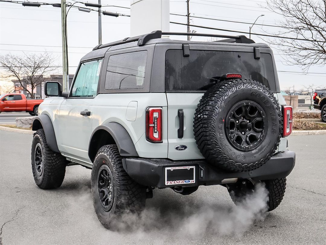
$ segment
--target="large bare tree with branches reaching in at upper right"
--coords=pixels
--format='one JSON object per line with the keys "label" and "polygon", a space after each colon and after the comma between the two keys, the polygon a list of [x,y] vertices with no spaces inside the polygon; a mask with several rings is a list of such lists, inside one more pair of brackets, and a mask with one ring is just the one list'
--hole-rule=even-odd
{"label": "large bare tree with branches reaching in at upper right", "polygon": [[267,8],[283,19],[277,24],[284,31],[273,34],[290,34],[296,39],[269,40],[288,54],[286,59],[290,63],[299,64],[306,70],[314,64],[325,65],[326,0],[267,0]]}

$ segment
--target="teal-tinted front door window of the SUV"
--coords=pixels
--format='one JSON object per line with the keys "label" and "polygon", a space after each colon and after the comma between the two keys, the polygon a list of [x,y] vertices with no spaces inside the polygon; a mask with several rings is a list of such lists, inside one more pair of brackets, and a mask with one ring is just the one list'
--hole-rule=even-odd
{"label": "teal-tinted front door window of the SUV", "polygon": [[71,97],[95,97],[102,59],[82,63],[74,84]]}

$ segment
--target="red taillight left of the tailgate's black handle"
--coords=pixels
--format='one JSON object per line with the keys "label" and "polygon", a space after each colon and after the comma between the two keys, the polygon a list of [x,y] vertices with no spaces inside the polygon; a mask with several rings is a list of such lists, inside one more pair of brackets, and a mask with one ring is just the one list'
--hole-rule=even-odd
{"label": "red taillight left of the tailgate's black handle", "polygon": [[149,107],[146,110],[146,139],[153,143],[162,142],[161,107]]}

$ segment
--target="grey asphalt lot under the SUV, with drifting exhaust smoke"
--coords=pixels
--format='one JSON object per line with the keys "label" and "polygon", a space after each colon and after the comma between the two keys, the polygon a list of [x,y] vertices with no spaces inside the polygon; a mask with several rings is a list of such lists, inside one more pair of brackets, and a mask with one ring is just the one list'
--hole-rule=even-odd
{"label": "grey asphalt lot under the SUV, with drifting exhaust smoke", "polygon": [[156,189],[154,198],[146,200],[141,221],[133,230],[119,232],[106,230],[97,220],[90,170],[67,167],[58,189],[35,185],[31,141],[31,135],[0,130],[2,245],[325,244],[324,135],[289,137],[296,166],[287,178],[282,203],[266,217],[255,213],[255,204],[235,208],[221,186],[200,187],[189,196]]}

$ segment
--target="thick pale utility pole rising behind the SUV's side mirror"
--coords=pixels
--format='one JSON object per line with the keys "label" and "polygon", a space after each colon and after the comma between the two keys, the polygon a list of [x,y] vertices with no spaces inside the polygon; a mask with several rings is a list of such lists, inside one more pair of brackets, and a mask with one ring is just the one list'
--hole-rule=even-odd
{"label": "thick pale utility pole rising behind the SUV's side mirror", "polygon": [[69,75],[68,75],[66,0],[61,0],[61,31],[62,31],[62,87],[63,87],[63,92],[68,92]]}

